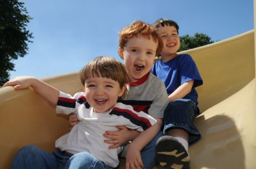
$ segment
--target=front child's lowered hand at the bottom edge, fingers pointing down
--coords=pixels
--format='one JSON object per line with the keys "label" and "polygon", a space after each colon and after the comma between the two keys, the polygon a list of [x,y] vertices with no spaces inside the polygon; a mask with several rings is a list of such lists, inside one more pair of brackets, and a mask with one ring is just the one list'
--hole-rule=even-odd
{"label": "front child's lowered hand at the bottom edge, fingers pointing down", "polygon": [[141,151],[130,145],[126,154],[125,169],[141,169],[143,166]]}

